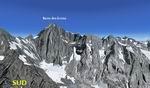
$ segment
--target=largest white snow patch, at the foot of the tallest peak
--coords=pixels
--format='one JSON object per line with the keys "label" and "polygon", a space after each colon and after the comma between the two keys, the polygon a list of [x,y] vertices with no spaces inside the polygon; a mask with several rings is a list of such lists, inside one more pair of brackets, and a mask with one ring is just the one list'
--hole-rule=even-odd
{"label": "largest white snow patch, at the foot of the tallest peak", "polygon": [[66,77],[66,65],[53,65],[53,63],[46,63],[45,61],[42,61],[40,63],[40,67],[45,70],[47,75],[52,78],[53,81],[57,83],[63,83],[61,78]]}

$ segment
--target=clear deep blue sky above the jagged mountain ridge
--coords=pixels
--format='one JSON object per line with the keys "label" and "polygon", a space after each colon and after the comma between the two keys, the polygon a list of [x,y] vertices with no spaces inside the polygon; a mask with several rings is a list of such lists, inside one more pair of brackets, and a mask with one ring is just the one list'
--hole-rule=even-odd
{"label": "clear deep blue sky above the jagged mountain ridge", "polygon": [[[42,17],[67,20],[43,20]],[[0,27],[16,36],[37,34],[49,23],[82,34],[150,38],[150,0],[1,0]]]}

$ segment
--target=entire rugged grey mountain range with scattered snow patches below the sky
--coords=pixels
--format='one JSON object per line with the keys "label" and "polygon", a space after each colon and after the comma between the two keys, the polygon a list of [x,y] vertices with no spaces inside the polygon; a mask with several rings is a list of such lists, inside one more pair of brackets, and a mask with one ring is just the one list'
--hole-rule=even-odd
{"label": "entire rugged grey mountain range with scattered snow patches below the sky", "polygon": [[0,31],[0,87],[149,88],[149,42],[80,35],[52,24],[36,38]]}

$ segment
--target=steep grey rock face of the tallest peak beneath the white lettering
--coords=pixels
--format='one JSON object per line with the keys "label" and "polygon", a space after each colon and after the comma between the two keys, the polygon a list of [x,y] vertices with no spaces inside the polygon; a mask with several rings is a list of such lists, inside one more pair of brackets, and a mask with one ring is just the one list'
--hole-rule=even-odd
{"label": "steep grey rock face of the tallest peak beneath the white lettering", "polygon": [[47,62],[62,64],[62,60],[68,61],[72,47],[69,43],[73,41],[74,36],[66,33],[57,26],[50,26],[47,30],[43,30],[36,38],[36,47],[42,59]]}

